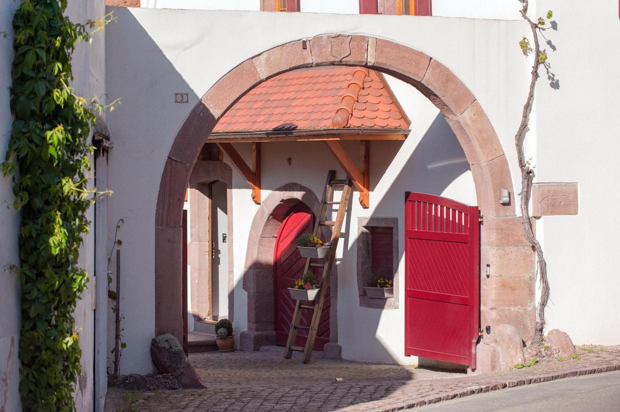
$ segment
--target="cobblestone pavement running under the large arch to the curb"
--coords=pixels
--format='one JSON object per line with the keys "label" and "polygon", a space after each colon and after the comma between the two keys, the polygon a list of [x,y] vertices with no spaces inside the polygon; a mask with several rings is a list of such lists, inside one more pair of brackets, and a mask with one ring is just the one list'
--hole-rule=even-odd
{"label": "cobblestone pavement running under the large arch to the curb", "polygon": [[321,358],[304,365],[284,360],[284,348],[197,353],[190,354],[190,361],[208,389],[126,392],[110,388],[105,412],[396,411],[506,387],[620,370],[620,345],[578,348],[575,359],[542,360],[531,367],[480,376]]}

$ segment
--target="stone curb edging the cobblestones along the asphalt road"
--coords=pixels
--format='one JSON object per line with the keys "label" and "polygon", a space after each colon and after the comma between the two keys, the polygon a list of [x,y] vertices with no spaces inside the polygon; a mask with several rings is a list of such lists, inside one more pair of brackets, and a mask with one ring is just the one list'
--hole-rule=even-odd
{"label": "stone curb edging the cobblestones along the asphalt road", "polygon": [[[469,395],[475,395],[476,393],[485,393],[485,392],[491,392],[493,390],[513,388],[513,387],[525,386],[529,384],[551,382],[552,380],[563,379],[567,377],[600,374],[603,372],[613,372],[613,371],[620,371],[620,364],[593,367],[590,369],[580,369],[576,371],[561,372],[561,373],[549,374],[549,375],[544,375],[544,376],[536,376],[536,377],[531,377],[531,378],[508,380],[506,382],[494,382],[488,385],[480,385],[475,388],[472,387],[472,388],[468,388],[467,390],[459,390],[457,392],[448,393],[443,396],[423,398],[423,399],[410,402],[410,403],[401,403],[400,405],[390,406],[389,408],[386,408],[385,406],[378,406],[377,408],[367,408],[366,411],[369,411],[369,412],[401,411],[404,409],[411,409],[411,408],[418,408],[420,406],[425,406],[425,405],[432,405],[433,403],[438,403],[441,401],[446,401],[446,400],[451,400],[451,399],[456,399],[456,398],[463,398]],[[345,411],[346,410],[347,409],[345,409]]]}

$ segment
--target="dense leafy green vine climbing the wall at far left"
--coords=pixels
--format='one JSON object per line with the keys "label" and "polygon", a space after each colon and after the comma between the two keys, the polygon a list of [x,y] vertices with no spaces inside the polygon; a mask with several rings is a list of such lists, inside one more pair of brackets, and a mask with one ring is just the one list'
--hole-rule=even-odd
{"label": "dense leafy green vine climbing the wall at far left", "polygon": [[25,411],[75,410],[72,394],[81,373],[73,313],[88,280],[78,257],[94,193],[89,134],[94,111],[103,106],[69,87],[71,54],[78,41],[89,41],[114,18],[74,24],[64,16],[66,6],[67,0],[22,0],[12,22],[14,120],[0,169],[13,176],[13,206],[21,211],[19,266],[12,269],[22,285],[19,390]]}

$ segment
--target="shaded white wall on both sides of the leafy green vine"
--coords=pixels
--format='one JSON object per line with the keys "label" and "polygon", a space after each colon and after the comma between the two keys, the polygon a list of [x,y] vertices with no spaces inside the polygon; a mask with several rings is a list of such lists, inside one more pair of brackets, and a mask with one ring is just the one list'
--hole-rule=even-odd
{"label": "shaded white wall on both sides of the leafy green vine", "polygon": [[[11,63],[13,59],[11,20],[19,2],[6,1],[0,6],[0,31],[7,30],[9,38],[0,39],[0,150],[1,158],[9,142],[12,116],[9,109],[9,86],[11,85]],[[74,22],[86,22],[104,14],[104,2],[89,0],[70,2],[67,15]],[[81,44],[73,54],[74,82],[76,92],[85,96],[104,93],[104,37],[95,36],[92,45]],[[19,369],[17,348],[20,329],[19,282],[7,270],[8,265],[19,264],[17,234],[19,233],[19,213],[7,208],[12,204],[11,179],[0,178],[0,409],[19,411]],[[92,209],[88,213],[92,221]],[[94,275],[94,227],[84,239],[80,253],[79,266],[85,268],[89,276]],[[75,312],[76,331],[79,332],[79,345],[82,349],[82,374],[76,385],[76,407],[79,411],[92,411],[93,404],[93,356],[94,356],[94,312],[92,311],[91,282],[89,288],[78,301]],[[14,345],[14,350],[11,346]],[[8,385],[5,388],[4,385]],[[6,397],[5,397],[6,393]]]}

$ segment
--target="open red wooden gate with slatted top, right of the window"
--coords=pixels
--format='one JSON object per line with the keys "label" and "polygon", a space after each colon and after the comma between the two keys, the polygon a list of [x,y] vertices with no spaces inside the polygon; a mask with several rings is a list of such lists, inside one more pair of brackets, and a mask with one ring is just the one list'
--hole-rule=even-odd
{"label": "open red wooden gate with slatted top, right of the window", "polygon": [[479,210],[405,196],[405,355],[476,367]]}

